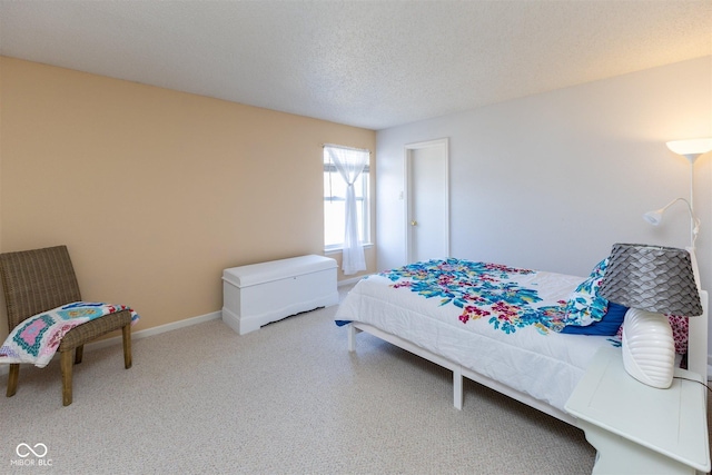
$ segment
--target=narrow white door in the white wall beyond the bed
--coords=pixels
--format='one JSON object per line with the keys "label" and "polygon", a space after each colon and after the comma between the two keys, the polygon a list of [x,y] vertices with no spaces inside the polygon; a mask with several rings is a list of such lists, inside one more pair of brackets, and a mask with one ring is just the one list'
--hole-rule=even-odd
{"label": "narrow white door in the white wall beyond the bed", "polygon": [[439,139],[405,147],[408,263],[449,256],[447,145]]}

